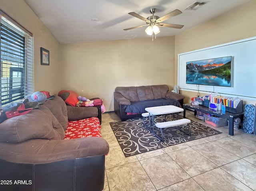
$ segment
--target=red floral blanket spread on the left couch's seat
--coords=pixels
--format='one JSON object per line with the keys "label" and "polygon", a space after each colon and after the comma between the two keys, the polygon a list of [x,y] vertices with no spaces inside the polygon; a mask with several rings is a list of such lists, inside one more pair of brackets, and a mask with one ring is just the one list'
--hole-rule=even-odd
{"label": "red floral blanket spread on the left couch's seat", "polygon": [[76,139],[82,137],[100,137],[100,120],[91,117],[78,121],[69,121],[64,139]]}

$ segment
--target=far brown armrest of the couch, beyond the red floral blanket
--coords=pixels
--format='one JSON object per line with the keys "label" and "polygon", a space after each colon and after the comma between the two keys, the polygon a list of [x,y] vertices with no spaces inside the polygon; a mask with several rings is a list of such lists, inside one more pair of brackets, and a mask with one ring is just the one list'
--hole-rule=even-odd
{"label": "far brown armrest of the couch, beyond the red floral blanket", "polygon": [[67,106],[68,120],[76,121],[90,117],[98,117],[97,107],[73,107]]}

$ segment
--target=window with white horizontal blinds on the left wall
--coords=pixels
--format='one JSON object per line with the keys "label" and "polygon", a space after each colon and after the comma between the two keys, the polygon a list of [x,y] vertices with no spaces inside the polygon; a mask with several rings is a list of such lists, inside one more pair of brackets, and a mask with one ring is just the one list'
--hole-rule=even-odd
{"label": "window with white horizontal blinds on the left wall", "polygon": [[34,90],[33,37],[0,11],[0,106],[21,100]]}

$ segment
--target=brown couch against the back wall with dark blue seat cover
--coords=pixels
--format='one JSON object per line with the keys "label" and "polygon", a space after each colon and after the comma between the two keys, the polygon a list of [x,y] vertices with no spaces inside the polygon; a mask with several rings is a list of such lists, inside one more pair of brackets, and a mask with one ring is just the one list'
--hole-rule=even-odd
{"label": "brown couch against the back wall with dark blue seat cover", "polygon": [[168,85],[138,87],[116,87],[114,92],[114,110],[120,119],[140,117],[146,107],[174,105],[182,107],[185,97],[173,93]]}

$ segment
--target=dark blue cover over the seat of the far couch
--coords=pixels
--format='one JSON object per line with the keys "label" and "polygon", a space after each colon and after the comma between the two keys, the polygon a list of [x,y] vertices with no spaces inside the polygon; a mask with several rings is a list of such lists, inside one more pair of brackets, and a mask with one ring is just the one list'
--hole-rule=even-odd
{"label": "dark blue cover over the seat of the far couch", "polygon": [[144,113],[146,107],[162,106],[162,105],[174,105],[180,107],[180,103],[176,100],[168,99],[156,99],[156,100],[145,100],[140,102],[131,102],[129,106],[126,107],[126,113]]}

